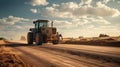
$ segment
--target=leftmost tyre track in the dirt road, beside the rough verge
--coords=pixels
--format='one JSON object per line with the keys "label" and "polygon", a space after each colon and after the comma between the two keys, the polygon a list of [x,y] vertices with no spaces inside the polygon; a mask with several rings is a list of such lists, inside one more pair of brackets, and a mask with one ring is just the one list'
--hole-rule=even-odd
{"label": "leftmost tyre track in the dirt road, beside the rough verge", "polygon": [[31,52],[25,51],[26,49],[24,49],[23,47],[26,46],[14,47],[13,50],[17,51],[20,54],[22,60],[24,60],[26,63],[32,64],[35,67],[59,67],[57,65],[52,64],[51,62],[44,60],[42,57],[36,56]]}

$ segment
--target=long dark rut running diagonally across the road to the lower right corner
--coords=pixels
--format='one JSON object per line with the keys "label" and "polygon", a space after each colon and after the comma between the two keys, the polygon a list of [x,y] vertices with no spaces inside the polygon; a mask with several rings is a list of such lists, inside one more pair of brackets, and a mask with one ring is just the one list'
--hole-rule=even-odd
{"label": "long dark rut running diagonally across the road to the lower right corner", "polygon": [[69,54],[69,53],[63,52],[63,51],[61,52],[58,50],[47,49],[47,48],[44,48],[44,46],[32,47],[32,48],[38,49],[38,50],[44,50],[45,52],[49,52],[49,53],[54,54],[54,55],[66,57],[66,58],[72,59],[72,61],[75,60],[78,63],[85,64],[88,66],[93,65],[93,66],[97,66],[97,67],[119,67],[118,64],[113,63],[113,62],[106,62],[103,60],[93,59],[93,58],[86,57],[86,56],[83,57],[83,56],[78,56],[78,55],[72,55],[72,54]]}

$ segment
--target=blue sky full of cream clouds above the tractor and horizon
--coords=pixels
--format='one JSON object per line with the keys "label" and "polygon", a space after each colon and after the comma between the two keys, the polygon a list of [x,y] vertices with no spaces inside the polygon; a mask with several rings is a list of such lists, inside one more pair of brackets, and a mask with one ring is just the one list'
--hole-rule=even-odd
{"label": "blue sky full of cream clouds above the tractor and horizon", "polygon": [[36,19],[47,19],[63,37],[120,35],[120,0],[0,0],[0,37],[19,40]]}

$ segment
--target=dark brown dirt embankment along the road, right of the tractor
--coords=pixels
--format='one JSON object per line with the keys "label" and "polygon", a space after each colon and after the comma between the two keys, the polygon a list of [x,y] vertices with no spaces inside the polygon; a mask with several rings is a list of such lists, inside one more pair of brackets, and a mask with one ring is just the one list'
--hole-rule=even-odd
{"label": "dark brown dirt embankment along the road, right of the tractor", "polygon": [[120,41],[117,41],[113,38],[108,39],[91,39],[91,40],[67,40],[62,42],[63,44],[84,44],[84,45],[95,45],[95,46],[112,46],[120,47]]}

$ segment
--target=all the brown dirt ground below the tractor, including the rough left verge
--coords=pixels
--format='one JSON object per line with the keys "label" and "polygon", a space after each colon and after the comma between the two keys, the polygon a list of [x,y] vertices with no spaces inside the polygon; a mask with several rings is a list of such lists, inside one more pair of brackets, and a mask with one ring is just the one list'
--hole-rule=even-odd
{"label": "all the brown dirt ground below the tractor, including the rough left verge", "polygon": [[0,41],[0,67],[120,67],[119,47]]}

